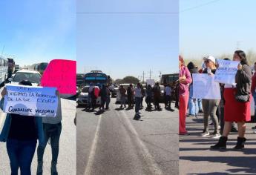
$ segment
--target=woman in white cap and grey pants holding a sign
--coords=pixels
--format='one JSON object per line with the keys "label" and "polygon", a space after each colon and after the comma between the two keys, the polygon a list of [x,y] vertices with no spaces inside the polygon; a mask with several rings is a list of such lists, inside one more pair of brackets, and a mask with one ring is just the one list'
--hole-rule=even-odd
{"label": "woman in white cap and grey pants holding a sign", "polygon": [[[203,70],[203,73],[208,73],[209,76],[213,76],[216,72],[215,66],[215,58],[213,56],[208,56],[203,59],[206,65],[206,69]],[[203,122],[204,122],[204,129],[201,136],[209,136],[209,116],[211,116],[211,120],[214,124],[214,132],[211,133],[212,138],[219,138],[220,131],[219,131],[219,122],[217,119],[216,111],[217,107],[220,104],[220,99],[202,99],[203,104]]]}

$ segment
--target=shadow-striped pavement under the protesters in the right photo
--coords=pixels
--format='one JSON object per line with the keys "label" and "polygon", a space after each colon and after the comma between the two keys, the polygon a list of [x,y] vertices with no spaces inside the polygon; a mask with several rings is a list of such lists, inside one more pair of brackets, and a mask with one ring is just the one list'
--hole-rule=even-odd
{"label": "shadow-striped pavement under the protesters in the right photo", "polygon": [[[232,151],[237,134],[229,136],[226,151],[211,151],[217,139],[198,136],[203,131],[203,116],[186,119],[189,136],[180,136],[180,174],[256,174],[256,134],[249,123],[246,149]],[[213,130],[213,127],[211,127]]]}

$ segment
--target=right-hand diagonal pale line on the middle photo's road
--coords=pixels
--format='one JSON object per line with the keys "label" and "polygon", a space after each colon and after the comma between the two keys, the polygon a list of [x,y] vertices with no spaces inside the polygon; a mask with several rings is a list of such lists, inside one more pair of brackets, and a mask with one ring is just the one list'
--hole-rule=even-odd
{"label": "right-hand diagonal pale line on the middle photo's road", "polygon": [[[152,174],[156,174],[156,175],[162,175],[163,172],[161,171],[161,169],[158,167],[157,163],[154,161],[153,156],[151,156],[151,153],[149,153],[148,148],[145,146],[145,144],[142,142],[142,140],[140,139],[139,134],[137,133],[137,131],[134,128],[134,125],[131,124],[127,114],[125,113],[125,111],[121,111],[125,117],[123,117],[125,119],[125,122],[128,124],[128,128],[131,131],[131,133],[134,134],[135,139],[138,143],[138,145],[140,145],[140,148],[142,150],[142,156],[145,159],[145,162],[148,165],[148,168],[150,169]],[[117,112],[118,113],[118,112]],[[118,113],[119,115],[119,113]]]}

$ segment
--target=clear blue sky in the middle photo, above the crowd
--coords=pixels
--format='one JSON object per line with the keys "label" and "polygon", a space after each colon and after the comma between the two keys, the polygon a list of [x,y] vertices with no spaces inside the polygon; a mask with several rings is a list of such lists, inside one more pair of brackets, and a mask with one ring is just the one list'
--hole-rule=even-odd
{"label": "clear blue sky in the middle photo, above the crowd", "polygon": [[177,0],[78,0],[77,71],[102,70],[114,79],[177,72],[177,11]]}

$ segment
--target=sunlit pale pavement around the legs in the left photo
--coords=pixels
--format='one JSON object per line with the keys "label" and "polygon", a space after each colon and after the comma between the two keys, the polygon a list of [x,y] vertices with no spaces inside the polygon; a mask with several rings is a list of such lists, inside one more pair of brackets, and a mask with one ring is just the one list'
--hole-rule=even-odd
{"label": "sunlit pale pavement around the legs in the left photo", "polygon": [[[59,174],[76,174],[76,126],[73,124],[75,113],[76,101],[62,99],[62,135],[60,138],[59,163],[57,165]],[[3,125],[5,116],[6,115],[0,111],[1,127]],[[32,174],[36,174],[36,159],[37,155],[35,153],[33,163],[31,165]],[[44,174],[50,174],[50,145],[47,145],[45,149],[44,160]],[[0,174],[10,174],[10,163],[4,142],[0,142]]]}

